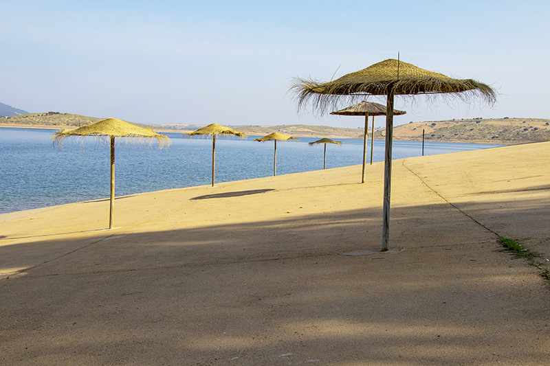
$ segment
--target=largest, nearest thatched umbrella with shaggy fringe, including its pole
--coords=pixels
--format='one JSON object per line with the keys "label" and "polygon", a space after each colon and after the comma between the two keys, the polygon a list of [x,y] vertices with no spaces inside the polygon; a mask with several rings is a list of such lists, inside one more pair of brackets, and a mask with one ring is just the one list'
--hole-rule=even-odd
{"label": "largest, nearest thatched umbrella with shaggy fringe, including its pole", "polygon": [[382,251],[388,250],[391,145],[393,138],[393,97],[406,94],[451,93],[463,100],[479,95],[489,104],[496,100],[496,93],[487,84],[472,79],[453,79],[441,73],[424,70],[407,62],[389,59],[348,73],[331,82],[298,79],[292,87],[297,92],[298,108],[307,100],[313,100],[320,111],[329,104],[336,106],[341,95],[351,100],[364,95],[386,95],[386,154],[384,169],[384,217],[382,225]]}

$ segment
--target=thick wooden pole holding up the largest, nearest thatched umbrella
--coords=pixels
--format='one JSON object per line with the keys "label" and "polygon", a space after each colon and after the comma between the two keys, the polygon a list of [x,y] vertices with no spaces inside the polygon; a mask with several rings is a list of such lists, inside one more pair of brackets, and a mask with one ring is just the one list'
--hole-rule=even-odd
{"label": "thick wooden pole holding up the largest, nearest thatched umbrella", "polygon": [[388,91],[386,108],[386,153],[384,156],[384,212],[382,216],[382,251],[388,250],[390,236],[391,147],[393,140],[393,90]]}

